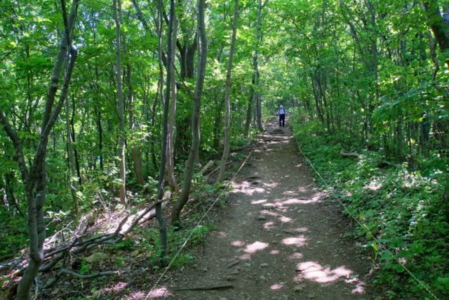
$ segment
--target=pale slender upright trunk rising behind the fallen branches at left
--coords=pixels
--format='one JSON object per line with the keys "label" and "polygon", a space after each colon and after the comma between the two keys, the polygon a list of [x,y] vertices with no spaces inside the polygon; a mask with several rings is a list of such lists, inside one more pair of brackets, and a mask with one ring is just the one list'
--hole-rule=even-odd
{"label": "pale slender upright trunk rising behind the fallen branches at left", "polygon": [[124,120],[124,100],[123,100],[123,88],[121,86],[121,0],[114,0],[114,22],[116,27],[116,66],[115,76],[117,83],[117,96],[119,98],[119,157],[120,157],[120,202],[123,205],[128,206],[128,200],[126,200],[126,157],[125,157],[125,120]]}

